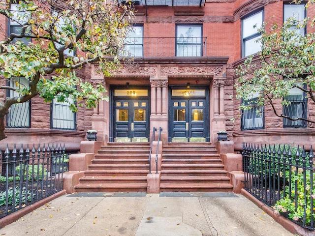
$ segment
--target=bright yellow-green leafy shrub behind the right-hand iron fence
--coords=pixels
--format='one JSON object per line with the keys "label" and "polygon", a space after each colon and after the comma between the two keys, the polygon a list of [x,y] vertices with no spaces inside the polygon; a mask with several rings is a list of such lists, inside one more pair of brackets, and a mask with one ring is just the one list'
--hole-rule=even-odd
{"label": "bright yellow-green leafy shrub behind the right-hand iron fence", "polygon": [[[286,180],[289,181],[289,174],[286,175]],[[288,218],[294,221],[300,221],[303,219],[304,208],[306,207],[306,224],[311,223],[311,198],[315,199],[315,189],[311,193],[311,175],[308,171],[306,173],[306,192],[304,190],[304,175],[303,169],[298,169],[298,174],[295,175],[295,167],[292,167],[291,174],[291,198],[289,197],[289,187],[285,186],[285,197],[279,200],[275,206],[273,206],[276,213],[285,213]],[[297,181],[297,208],[295,207],[295,181]],[[282,193],[283,194],[283,193]],[[314,200],[315,203],[315,200]],[[314,207],[314,206],[313,206]],[[314,207],[315,212],[315,207]],[[315,213],[313,213],[315,218]]]}

